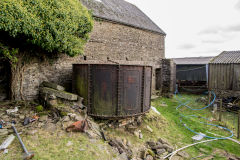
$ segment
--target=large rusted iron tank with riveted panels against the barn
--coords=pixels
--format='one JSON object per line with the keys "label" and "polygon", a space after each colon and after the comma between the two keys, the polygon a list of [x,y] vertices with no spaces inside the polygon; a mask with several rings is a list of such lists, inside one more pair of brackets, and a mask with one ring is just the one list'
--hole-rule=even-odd
{"label": "large rusted iron tank with riveted panels against the barn", "polygon": [[124,118],[150,109],[152,67],[73,64],[73,92],[84,98],[88,115]]}

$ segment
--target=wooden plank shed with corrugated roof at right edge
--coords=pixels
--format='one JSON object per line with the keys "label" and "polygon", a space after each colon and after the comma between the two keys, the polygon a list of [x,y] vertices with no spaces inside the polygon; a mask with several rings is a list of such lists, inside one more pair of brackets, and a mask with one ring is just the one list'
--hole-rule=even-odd
{"label": "wooden plank shed with corrugated roof at right edge", "polygon": [[209,90],[220,98],[240,97],[240,51],[224,51],[211,60]]}

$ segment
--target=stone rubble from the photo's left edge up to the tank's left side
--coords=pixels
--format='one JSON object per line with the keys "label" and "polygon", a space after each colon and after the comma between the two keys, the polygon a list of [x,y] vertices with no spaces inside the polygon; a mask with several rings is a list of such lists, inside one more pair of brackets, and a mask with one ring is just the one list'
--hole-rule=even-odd
{"label": "stone rubble from the photo's left edge up to the tank's left side", "polygon": [[[13,133],[11,123],[23,134],[35,134],[37,129],[43,128],[49,132],[56,129],[66,130],[77,121],[86,121],[90,137],[100,137],[100,128],[87,117],[87,109],[82,104],[83,98],[66,92],[65,88],[50,82],[43,82],[40,86],[40,103],[7,104],[0,108],[0,136]],[[25,107],[27,106],[27,107]],[[50,112],[49,112],[50,111]]]}

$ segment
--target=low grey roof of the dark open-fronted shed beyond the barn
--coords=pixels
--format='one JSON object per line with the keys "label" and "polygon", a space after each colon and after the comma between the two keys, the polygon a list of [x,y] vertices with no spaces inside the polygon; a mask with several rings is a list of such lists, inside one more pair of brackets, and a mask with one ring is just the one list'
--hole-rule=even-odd
{"label": "low grey roof of the dark open-fronted shed beyond the barn", "polygon": [[174,58],[176,65],[202,65],[208,64],[213,57],[184,57]]}

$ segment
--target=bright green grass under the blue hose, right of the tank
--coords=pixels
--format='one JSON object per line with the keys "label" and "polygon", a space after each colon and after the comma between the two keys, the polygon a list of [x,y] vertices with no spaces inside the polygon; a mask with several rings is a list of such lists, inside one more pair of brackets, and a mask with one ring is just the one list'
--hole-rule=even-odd
{"label": "bright green grass under the blue hose, right of the tank", "polygon": [[[188,105],[193,108],[202,108],[205,106],[204,104],[195,102],[195,100],[199,97],[200,97],[199,95],[185,94],[185,95],[182,95],[180,99],[183,102],[190,101]],[[168,106],[163,107],[161,104],[164,104],[164,103],[167,104]],[[195,135],[194,133],[186,129],[183,126],[183,123],[185,123],[189,128],[195,130],[196,132],[202,132],[206,135],[209,135],[207,131],[210,131],[212,133],[216,133],[222,136],[230,135],[229,132],[226,132],[217,127],[208,126],[208,125],[199,123],[199,121],[204,121],[204,119],[183,117],[182,122],[180,121],[181,114],[184,114],[184,115],[194,114],[194,115],[206,117],[209,119],[211,118],[215,119],[216,117],[212,117],[212,113],[209,109],[204,109],[201,111],[193,111],[186,107],[181,107],[179,110],[176,110],[176,107],[179,105],[179,102],[177,101],[176,98],[173,98],[173,99],[159,98],[154,100],[152,102],[152,105],[158,109],[158,111],[167,119],[169,123],[167,130],[170,132],[170,134],[164,135],[164,137],[179,147],[193,143],[193,140],[191,139],[191,137]],[[209,122],[209,123],[220,124],[217,121]],[[213,136],[213,135],[209,135],[209,136]],[[191,147],[187,149],[186,151],[190,153],[191,156],[194,157],[199,155],[200,148],[203,148],[204,151],[206,151],[205,153],[206,155],[212,155],[212,152],[218,148],[218,149],[222,149],[227,152],[240,156],[240,146],[236,143],[233,143],[230,140],[218,140],[218,141],[213,141],[205,144],[199,144],[195,147]],[[218,156],[215,158],[221,159],[221,157],[218,157]]]}

